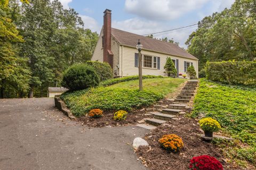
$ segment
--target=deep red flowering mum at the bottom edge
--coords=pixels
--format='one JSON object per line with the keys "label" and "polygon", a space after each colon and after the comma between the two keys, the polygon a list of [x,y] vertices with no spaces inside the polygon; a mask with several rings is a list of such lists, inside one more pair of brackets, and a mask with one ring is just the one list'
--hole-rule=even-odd
{"label": "deep red flowering mum at the bottom edge", "polygon": [[189,169],[193,170],[223,170],[219,160],[214,157],[203,155],[190,160]]}

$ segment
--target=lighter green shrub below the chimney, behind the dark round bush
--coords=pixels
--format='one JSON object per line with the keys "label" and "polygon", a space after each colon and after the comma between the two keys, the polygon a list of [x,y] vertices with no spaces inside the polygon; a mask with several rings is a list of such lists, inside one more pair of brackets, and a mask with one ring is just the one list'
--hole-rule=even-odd
{"label": "lighter green shrub below the chimney, behind the dark round bush", "polygon": [[100,82],[113,78],[113,70],[107,62],[87,61],[92,66],[100,78]]}

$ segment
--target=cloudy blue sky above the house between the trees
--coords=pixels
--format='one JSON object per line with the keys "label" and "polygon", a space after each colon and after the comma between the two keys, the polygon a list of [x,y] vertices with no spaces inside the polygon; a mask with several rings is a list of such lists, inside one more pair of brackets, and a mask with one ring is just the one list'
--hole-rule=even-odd
{"label": "cloudy blue sky above the house between the trees", "polygon": [[[158,31],[189,26],[201,21],[213,12],[229,8],[235,0],[59,0],[63,7],[75,9],[84,21],[85,28],[100,33],[103,11],[112,11],[112,27],[144,35]],[[187,47],[185,42],[197,26],[167,33],[155,34],[167,37]]]}

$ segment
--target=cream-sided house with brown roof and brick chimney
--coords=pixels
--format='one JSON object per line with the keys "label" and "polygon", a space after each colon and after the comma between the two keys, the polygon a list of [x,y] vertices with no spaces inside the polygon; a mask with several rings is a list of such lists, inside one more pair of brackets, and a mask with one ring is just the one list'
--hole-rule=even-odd
{"label": "cream-sided house with brown roof and brick chimney", "polygon": [[113,68],[114,77],[138,75],[138,50],[135,48],[138,39],[143,45],[143,75],[167,76],[164,65],[170,57],[177,69],[177,76],[179,73],[186,74],[187,68],[193,65],[198,77],[198,59],[195,56],[176,44],[111,28],[111,10],[106,9],[103,13],[103,27],[92,60],[108,62]]}

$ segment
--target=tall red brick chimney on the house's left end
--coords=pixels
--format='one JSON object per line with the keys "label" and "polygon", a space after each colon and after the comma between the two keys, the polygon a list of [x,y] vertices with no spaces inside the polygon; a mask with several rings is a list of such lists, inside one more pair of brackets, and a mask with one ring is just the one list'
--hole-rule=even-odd
{"label": "tall red brick chimney on the house's left end", "polygon": [[113,68],[113,53],[111,52],[111,10],[106,9],[103,16],[103,61]]}

